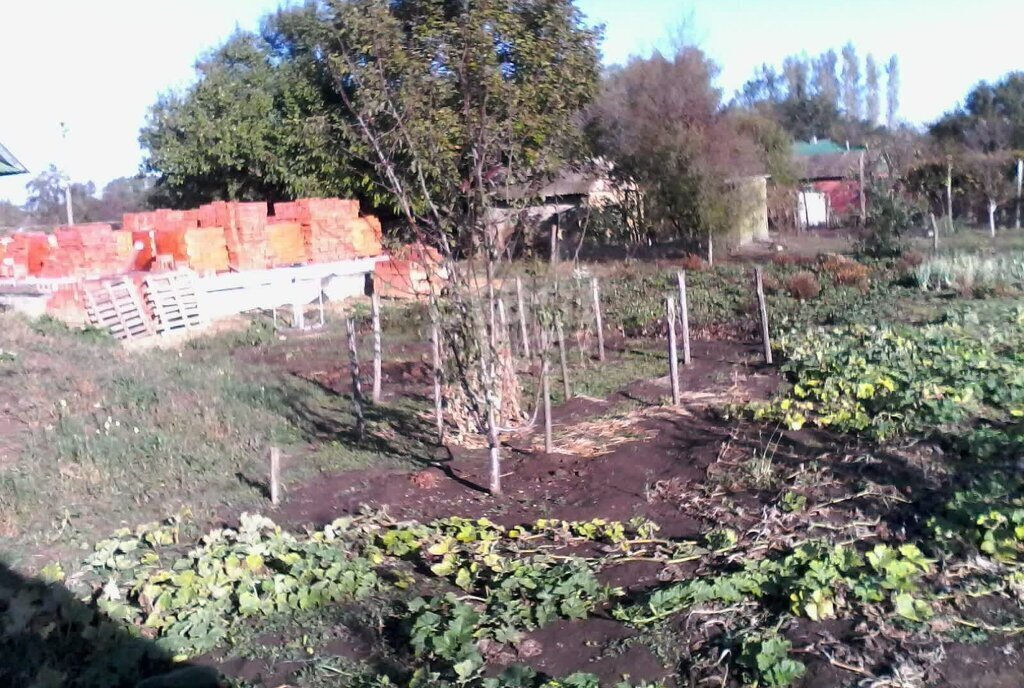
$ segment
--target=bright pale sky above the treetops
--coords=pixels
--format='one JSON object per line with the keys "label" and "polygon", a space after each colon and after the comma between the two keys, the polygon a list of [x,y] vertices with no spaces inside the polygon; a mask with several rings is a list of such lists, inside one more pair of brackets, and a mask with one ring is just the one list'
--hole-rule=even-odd
{"label": "bright pale sky above the treetops", "polygon": [[[282,0],[0,0],[0,142],[35,174],[51,162],[97,186],[134,174],[146,107],[193,63]],[[721,67],[726,96],[761,62],[853,41],[899,56],[901,116],[952,107],[979,80],[1024,69],[1021,0],[579,0],[606,27],[604,59],[665,45],[681,26]],[[67,141],[59,123],[68,123]],[[0,178],[25,200],[30,175]]]}

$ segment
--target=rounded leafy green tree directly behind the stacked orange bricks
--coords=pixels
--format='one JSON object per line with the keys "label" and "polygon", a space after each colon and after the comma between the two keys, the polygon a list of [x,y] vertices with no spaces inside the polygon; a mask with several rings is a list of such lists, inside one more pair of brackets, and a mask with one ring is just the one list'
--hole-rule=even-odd
{"label": "rounded leafy green tree directly behind the stacked orange bricks", "polygon": [[[362,180],[314,56],[314,6],[282,10],[202,58],[153,105],[139,142],[160,205],[350,196]],[[362,174],[365,175],[365,168]]]}

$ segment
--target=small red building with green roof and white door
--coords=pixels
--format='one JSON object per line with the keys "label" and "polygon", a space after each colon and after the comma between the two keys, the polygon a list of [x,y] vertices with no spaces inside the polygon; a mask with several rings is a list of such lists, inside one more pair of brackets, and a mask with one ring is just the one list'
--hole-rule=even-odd
{"label": "small red building with green roof and white door", "polygon": [[793,157],[800,171],[797,226],[836,227],[850,224],[860,213],[862,146],[841,145],[828,139],[798,141]]}

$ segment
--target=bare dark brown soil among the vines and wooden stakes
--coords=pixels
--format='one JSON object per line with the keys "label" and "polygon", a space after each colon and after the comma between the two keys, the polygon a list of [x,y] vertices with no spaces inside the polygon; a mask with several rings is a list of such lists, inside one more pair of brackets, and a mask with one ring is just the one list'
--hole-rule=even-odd
{"label": "bare dark brown soil among the vines and wooden stakes", "polygon": [[[429,398],[431,378],[425,347],[404,346],[401,353],[408,362],[385,367],[385,399]],[[740,524],[756,524],[775,493],[733,485],[712,494],[716,498],[712,502],[690,496],[701,492],[710,480],[717,479],[723,465],[732,466],[730,457],[749,456],[750,451],[763,448],[766,442],[784,445],[780,461],[794,469],[803,467],[804,462],[836,456],[844,447],[835,438],[813,433],[776,435],[770,431],[765,434],[756,427],[740,429],[735,422],[722,421],[709,413],[709,405],[771,396],[780,381],[774,369],[759,364],[758,346],[695,342],[693,358],[694,363],[681,371],[681,387],[686,393],[685,410],[681,413],[666,412],[660,403],[669,394],[667,379],[634,383],[607,399],[573,398],[555,410],[556,447],[560,438],[570,444],[578,439],[572,434],[573,428],[586,428],[587,423],[596,423],[594,427],[598,427],[608,418],[626,417],[624,427],[628,426],[630,435],[635,433],[639,437],[614,444],[607,453],[581,456],[568,447],[566,453],[545,454],[538,449],[543,439],[534,430],[507,436],[501,497],[492,497],[484,489],[488,472],[484,451],[438,447],[435,463],[419,471],[357,470],[327,474],[295,485],[288,491],[275,520],[293,528],[319,526],[365,506],[385,509],[397,519],[486,516],[503,525],[538,518],[628,520],[640,516],[658,523],[663,536],[688,539],[715,527],[716,519],[723,518],[724,512],[719,508],[727,504],[729,513],[725,517],[735,518]],[[287,354],[274,352],[260,360],[313,380],[334,392],[349,392],[349,371],[339,364],[343,360],[339,351],[324,340],[309,339]],[[837,487],[837,496],[849,494],[855,479],[867,475],[866,469],[856,470],[856,475],[850,476],[850,484]],[[890,472],[887,476],[894,490],[910,491],[910,474]],[[667,498],[668,492],[676,497]],[[865,513],[870,515],[870,510],[861,511],[860,505],[854,510],[851,506],[849,510],[828,512],[824,520],[841,522],[863,517]],[[902,523],[894,520],[891,527],[903,527]],[[606,583],[621,586],[631,594],[657,585],[662,568],[653,562],[634,562],[602,571],[601,575]],[[687,572],[691,571],[681,571]],[[674,629],[678,634],[675,642],[686,643],[687,637],[700,632],[699,626],[697,617],[683,619]],[[358,643],[351,638],[345,640],[346,633],[340,628],[338,647],[331,648],[332,651],[362,656]],[[601,678],[602,685],[605,682],[613,685],[625,675],[635,683],[664,680],[672,675],[674,672],[667,670],[648,647],[628,642],[634,634],[632,629],[603,613],[583,621],[560,620],[529,634],[540,650],[527,661],[550,676],[590,672]],[[863,673],[830,663],[813,651],[817,645],[853,642],[853,636],[863,637],[863,629],[855,634],[842,624],[800,619],[787,635],[795,647],[810,648],[808,656],[802,657],[808,671],[800,685],[838,688],[858,685],[864,680]],[[251,659],[228,659],[219,668],[227,675],[266,686],[279,685],[289,671],[287,666]],[[947,645],[936,656],[934,665],[927,669],[927,684],[905,685],[956,688],[1024,685],[1024,644],[1015,638],[995,638],[975,645]]]}

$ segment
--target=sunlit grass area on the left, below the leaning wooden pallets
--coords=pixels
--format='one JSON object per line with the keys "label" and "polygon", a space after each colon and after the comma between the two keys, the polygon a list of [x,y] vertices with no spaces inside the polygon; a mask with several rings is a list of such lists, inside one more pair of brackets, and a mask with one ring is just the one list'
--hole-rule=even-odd
{"label": "sunlit grass area on the left, below the leaning wooden pallets", "polygon": [[406,430],[394,441],[356,444],[346,397],[232,356],[266,343],[259,325],[137,353],[48,319],[3,314],[0,328],[13,353],[0,395],[18,428],[16,459],[0,465],[0,528],[23,552],[182,508],[264,503],[270,445],[293,458],[292,482],[424,453],[408,404],[370,416],[371,431]]}

